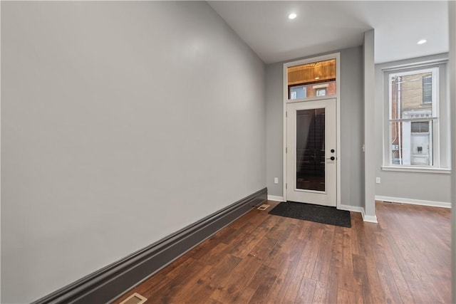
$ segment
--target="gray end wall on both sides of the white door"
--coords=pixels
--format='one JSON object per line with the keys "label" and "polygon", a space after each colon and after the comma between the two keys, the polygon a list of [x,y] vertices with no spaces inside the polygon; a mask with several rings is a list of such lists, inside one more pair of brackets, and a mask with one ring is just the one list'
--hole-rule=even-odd
{"label": "gray end wall on both sides of the white door", "polygon": [[[360,46],[340,52],[341,204],[363,206],[363,50]],[[266,184],[274,196],[283,196],[283,64],[266,65]]]}

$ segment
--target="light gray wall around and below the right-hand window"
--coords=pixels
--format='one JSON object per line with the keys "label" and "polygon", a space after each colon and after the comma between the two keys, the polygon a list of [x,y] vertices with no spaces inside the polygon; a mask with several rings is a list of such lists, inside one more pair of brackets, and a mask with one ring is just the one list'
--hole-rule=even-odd
{"label": "light gray wall around and below the right-hand window", "polygon": [[[378,148],[376,149],[377,154],[375,155],[375,176],[380,177],[381,181],[380,184],[375,185],[376,196],[388,196],[398,199],[418,199],[442,203],[449,203],[451,201],[450,174],[391,172],[384,171],[381,168],[383,165],[383,153],[388,152],[388,147],[383,147],[383,133],[388,133],[388,125],[383,123],[384,117],[388,117],[388,104],[386,104],[383,99],[383,69],[426,61],[438,61],[446,58],[448,58],[447,54],[438,54],[375,65],[375,113],[377,113],[377,117],[382,117],[381,119],[375,120],[375,142],[378,144]],[[441,70],[441,73],[445,75],[446,71]],[[445,78],[440,77],[442,84],[442,89],[440,90],[441,98],[446,98],[447,95],[447,87],[444,82],[444,80],[446,80]],[[441,117],[447,115],[447,111],[441,112],[440,115]],[[446,133],[441,134],[441,137],[447,136]],[[444,147],[443,150],[447,150],[448,148],[449,147]]]}

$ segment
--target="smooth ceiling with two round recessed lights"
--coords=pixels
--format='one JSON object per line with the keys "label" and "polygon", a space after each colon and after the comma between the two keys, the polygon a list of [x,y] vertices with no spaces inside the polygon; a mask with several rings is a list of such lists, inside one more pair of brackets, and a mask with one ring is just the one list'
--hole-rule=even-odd
{"label": "smooth ceiling with two round recessed lights", "polygon": [[208,2],[265,63],[361,46],[372,28],[375,63],[449,48],[447,1]]}

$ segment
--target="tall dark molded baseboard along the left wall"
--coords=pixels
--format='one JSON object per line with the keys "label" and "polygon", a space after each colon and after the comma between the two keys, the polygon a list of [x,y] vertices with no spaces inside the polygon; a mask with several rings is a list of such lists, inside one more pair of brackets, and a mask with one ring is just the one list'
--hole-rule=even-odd
{"label": "tall dark molded baseboard along the left wall", "polygon": [[264,188],[33,304],[108,303],[266,199]]}

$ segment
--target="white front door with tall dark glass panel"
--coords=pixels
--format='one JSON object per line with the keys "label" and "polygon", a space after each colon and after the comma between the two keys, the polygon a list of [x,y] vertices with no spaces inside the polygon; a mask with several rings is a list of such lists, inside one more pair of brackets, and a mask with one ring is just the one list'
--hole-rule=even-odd
{"label": "white front door with tall dark glass panel", "polygon": [[286,200],[336,206],[336,98],[286,105]]}

